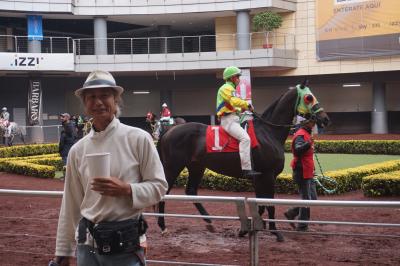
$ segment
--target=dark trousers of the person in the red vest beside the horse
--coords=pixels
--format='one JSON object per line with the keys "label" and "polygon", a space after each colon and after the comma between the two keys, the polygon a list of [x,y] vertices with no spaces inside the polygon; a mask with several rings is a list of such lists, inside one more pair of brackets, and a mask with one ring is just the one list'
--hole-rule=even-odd
{"label": "dark trousers of the person in the red vest beside the horse", "polygon": [[[302,200],[317,200],[317,188],[314,179],[304,179],[303,173],[295,171],[293,173],[293,179],[297,183],[299,188],[300,198]],[[308,221],[310,220],[310,207],[293,207],[286,212],[290,217],[298,217],[299,220]],[[298,228],[308,228],[307,223],[299,223]]]}

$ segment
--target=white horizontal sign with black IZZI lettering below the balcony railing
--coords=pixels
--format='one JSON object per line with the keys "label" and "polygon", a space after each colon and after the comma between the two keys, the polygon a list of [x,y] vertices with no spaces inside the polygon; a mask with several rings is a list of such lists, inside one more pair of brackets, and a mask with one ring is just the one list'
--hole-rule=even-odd
{"label": "white horizontal sign with black IZZI lettering below the balcony railing", "polygon": [[74,71],[74,54],[0,53],[0,70]]}

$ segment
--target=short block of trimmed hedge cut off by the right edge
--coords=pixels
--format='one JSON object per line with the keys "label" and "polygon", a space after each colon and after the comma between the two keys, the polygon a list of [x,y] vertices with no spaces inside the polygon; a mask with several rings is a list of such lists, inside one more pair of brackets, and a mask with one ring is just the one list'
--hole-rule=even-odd
{"label": "short block of trimmed hedge cut off by the right edge", "polygon": [[365,196],[400,196],[400,171],[366,176],[362,180]]}

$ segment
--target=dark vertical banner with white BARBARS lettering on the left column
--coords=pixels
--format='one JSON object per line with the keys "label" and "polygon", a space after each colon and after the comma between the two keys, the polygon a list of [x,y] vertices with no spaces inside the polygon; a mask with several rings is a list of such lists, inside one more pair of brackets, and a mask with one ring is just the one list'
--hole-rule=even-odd
{"label": "dark vertical banner with white BARBARS lettering on the left column", "polygon": [[28,122],[30,126],[41,124],[42,113],[42,88],[40,81],[29,81],[28,94]]}

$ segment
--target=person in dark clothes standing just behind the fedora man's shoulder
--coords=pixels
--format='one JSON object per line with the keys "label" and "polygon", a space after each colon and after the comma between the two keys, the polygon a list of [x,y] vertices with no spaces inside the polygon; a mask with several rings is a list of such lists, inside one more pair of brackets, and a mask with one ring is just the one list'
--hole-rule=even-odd
{"label": "person in dark clothes standing just behind the fedora man's shoulder", "polygon": [[64,165],[67,164],[67,157],[72,145],[76,142],[75,124],[70,120],[71,116],[68,113],[60,114],[62,130],[60,134],[60,142],[58,151],[63,160]]}

